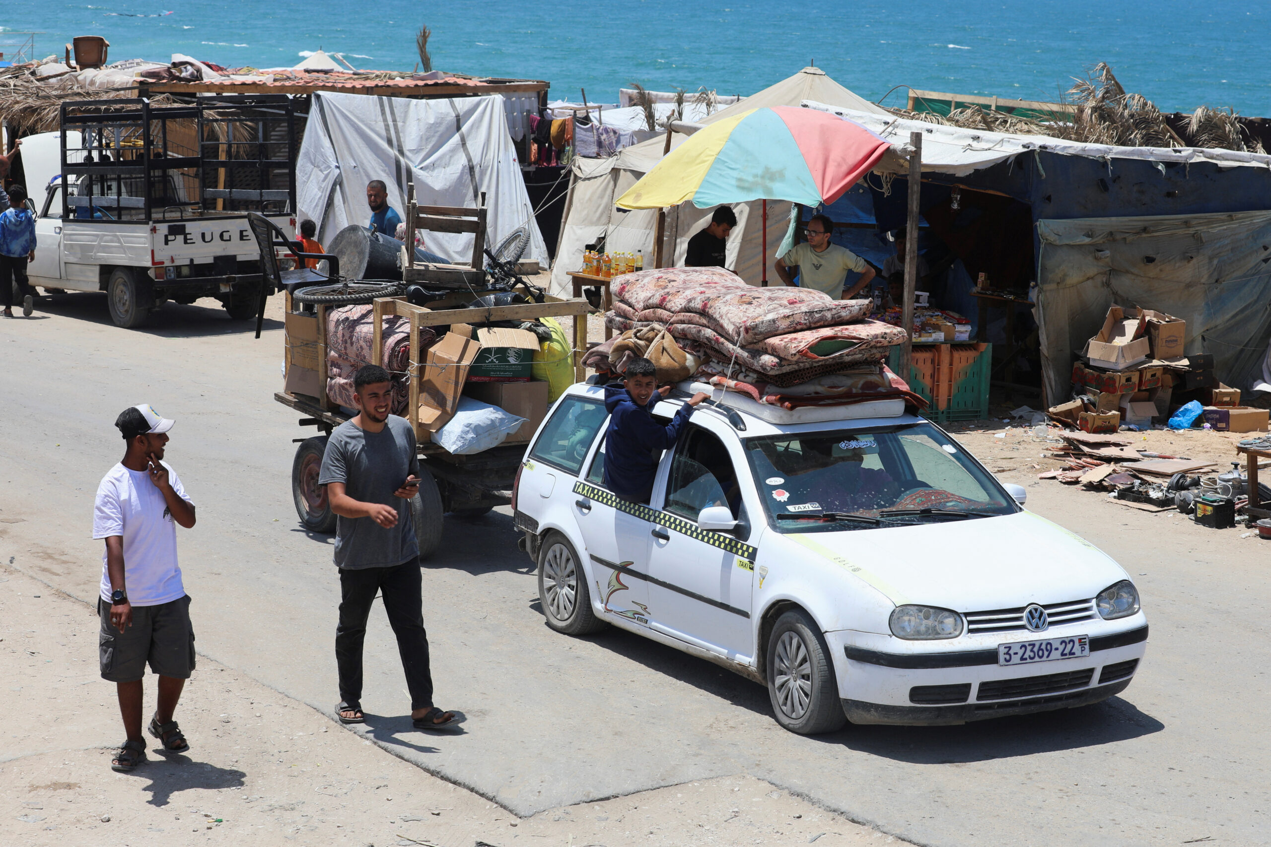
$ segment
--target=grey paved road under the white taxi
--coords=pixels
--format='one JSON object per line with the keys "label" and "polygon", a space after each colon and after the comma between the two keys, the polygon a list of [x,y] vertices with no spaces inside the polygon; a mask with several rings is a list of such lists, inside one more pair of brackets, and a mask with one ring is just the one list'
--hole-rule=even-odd
{"label": "grey paved road under the white taxi", "polygon": [[[302,531],[290,502],[290,441],[313,430],[272,401],[281,357],[277,320],[257,342],[201,305],[119,330],[100,297],[69,295],[38,320],[0,323],[0,555],[94,594],[93,494],[122,453],[111,424],[151,403],[177,420],[168,457],[198,505],[198,526],[180,536],[198,648],[329,710],[338,580],[330,538]],[[1035,510],[1108,550],[1141,588],[1148,658],[1107,704],[792,735],[761,687],[712,664],[619,631],[550,632],[511,519],[492,513],[447,522],[425,573],[438,705],[464,711],[466,733],[411,731],[380,611],[365,731],[521,815],[749,773],[920,843],[1271,843],[1271,545],[1054,485],[1030,493]]]}

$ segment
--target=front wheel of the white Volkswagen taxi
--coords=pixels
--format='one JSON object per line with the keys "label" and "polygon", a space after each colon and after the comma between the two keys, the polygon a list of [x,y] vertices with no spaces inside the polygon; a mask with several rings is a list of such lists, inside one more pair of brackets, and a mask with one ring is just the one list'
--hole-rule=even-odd
{"label": "front wheel of the white Volkswagen taxi", "polygon": [[843,729],[834,662],[816,622],[801,608],[777,618],[768,641],[768,696],[777,723],[799,735]]}

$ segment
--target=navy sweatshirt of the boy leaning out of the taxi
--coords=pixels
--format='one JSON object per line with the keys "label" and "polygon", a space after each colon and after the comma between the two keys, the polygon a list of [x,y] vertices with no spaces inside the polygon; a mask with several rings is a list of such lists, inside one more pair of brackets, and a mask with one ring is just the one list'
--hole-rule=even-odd
{"label": "navy sweatshirt of the boy leaning out of the taxi", "polygon": [[624,500],[648,502],[662,451],[675,443],[680,427],[693,414],[693,408],[684,404],[663,427],[652,415],[661,399],[655,391],[648,405],[639,406],[622,385],[605,386],[605,409],[610,415],[605,430],[605,486]]}

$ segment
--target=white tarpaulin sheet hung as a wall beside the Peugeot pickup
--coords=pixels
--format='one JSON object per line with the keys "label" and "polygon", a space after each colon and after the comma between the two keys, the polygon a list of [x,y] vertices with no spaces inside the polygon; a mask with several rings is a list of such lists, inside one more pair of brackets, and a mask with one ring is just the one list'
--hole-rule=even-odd
{"label": "white tarpaulin sheet hung as a wall beside the Peugeot pickup", "polygon": [[[525,222],[524,260],[547,265],[543,234],[525,193],[500,95],[407,100],[315,93],[296,163],[300,217],[318,225],[323,244],[350,223],[366,225],[366,184],[383,179],[389,204],[405,211],[405,187],[428,206],[475,207],[486,194],[486,244],[496,246]],[[428,249],[451,260],[472,255],[466,232],[425,232]]]}

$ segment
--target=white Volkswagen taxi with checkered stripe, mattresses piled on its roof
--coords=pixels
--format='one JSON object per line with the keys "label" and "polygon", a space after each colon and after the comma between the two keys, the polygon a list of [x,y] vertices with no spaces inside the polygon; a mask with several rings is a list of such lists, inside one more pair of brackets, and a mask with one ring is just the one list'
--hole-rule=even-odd
{"label": "white Volkswagen taxi with checkered stripe, mattresses piled on its roof", "polygon": [[[675,413],[681,383],[655,415]],[[683,397],[679,395],[683,394]],[[548,625],[619,626],[768,686],[778,723],[960,724],[1084,706],[1148,640],[1125,570],[1017,504],[900,400],[693,411],[648,505],[604,485],[601,386],[576,385],[512,494]]]}

